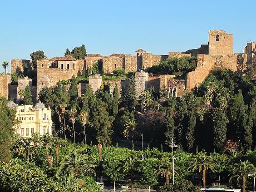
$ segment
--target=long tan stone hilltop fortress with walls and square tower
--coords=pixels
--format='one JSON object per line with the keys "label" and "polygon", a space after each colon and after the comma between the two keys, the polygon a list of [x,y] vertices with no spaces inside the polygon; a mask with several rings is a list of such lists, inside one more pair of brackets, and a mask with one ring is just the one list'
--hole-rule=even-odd
{"label": "long tan stone hilltop fortress with walls and square tower", "polygon": [[[43,87],[55,86],[60,80],[69,80],[73,75],[81,75],[83,68],[88,71],[96,62],[101,63],[105,74],[114,70],[124,69],[126,72],[135,72],[136,90],[140,94],[143,90],[153,86],[155,88],[169,88],[170,96],[182,96],[185,90],[191,91],[204,81],[205,77],[215,68],[227,68],[236,71],[241,75],[252,62],[255,55],[256,43],[249,42],[244,48],[244,53],[233,53],[233,35],[225,31],[209,31],[209,41],[200,48],[185,52],[169,52],[168,55],[153,55],[139,49],[135,55],[114,53],[110,56],[100,54],[89,54],[84,59],[76,60],[72,56],[43,58],[37,61],[37,68],[33,68],[29,60],[12,60],[11,73],[23,73],[34,71],[37,74],[36,85],[32,85],[31,79],[24,77],[18,80],[18,85],[10,84],[8,75],[1,75],[0,96],[9,99],[19,99],[18,91],[26,85],[31,86],[34,100]],[[159,65],[168,57],[196,56],[198,63],[194,71],[188,72],[184,80],[176,80],[174,75],[149,76],[143,70]],[[10,76],[10,75],[9,75]],[[90,76],[89,84],[96,91],[102,85],[102,78],[99,75]],[[124,88],[127,81],[110,82],[111,88],[115,85]],[[84,90],[85,83],[79,83],[79,95]],[[8,88],[7,88],[8,87]]]}

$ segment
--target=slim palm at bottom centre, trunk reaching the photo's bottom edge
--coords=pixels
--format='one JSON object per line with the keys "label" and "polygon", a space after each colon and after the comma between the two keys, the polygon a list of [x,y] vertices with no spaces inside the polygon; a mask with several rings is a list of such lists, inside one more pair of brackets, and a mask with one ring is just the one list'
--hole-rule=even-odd
{"label": "slim palm at bottom centre, trunk reaching the photo's bottom edge", "polygon": [[131,180],[131,192],[134,192],[134,174],[137,170],[138,162],[139,159],[137,159],[137,157],[131,156],[125,160],[123,165],[124,173],[126,173]]}

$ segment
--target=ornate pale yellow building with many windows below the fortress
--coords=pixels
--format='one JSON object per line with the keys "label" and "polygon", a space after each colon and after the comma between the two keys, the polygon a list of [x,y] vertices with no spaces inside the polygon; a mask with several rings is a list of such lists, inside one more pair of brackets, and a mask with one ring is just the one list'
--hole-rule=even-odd
{"label": "ornate pale yellow building with many windows below the fortress", "polygon": [[51,109],[47,109],[44,104],[38,102],[33,105],[16,105],[8,101],[8,106],[17,109],[16,119],[19,124],[14,127],[17,135],[25,138],[39,135],[52,134]]}

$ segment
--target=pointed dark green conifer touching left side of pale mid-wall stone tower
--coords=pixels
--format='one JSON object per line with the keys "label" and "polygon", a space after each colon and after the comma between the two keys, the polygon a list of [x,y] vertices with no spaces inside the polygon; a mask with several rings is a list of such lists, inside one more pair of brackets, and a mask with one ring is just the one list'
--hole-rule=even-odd
{"label": "pointed dark green conifer touching left side of pale mid-wall stone tower", "polygon": [[126,90],[122,90],[121,99],[123,105],[129,110],[135,110],[135,107],[139,104],[134,77],[130,79],[130,83],[127,86]]}

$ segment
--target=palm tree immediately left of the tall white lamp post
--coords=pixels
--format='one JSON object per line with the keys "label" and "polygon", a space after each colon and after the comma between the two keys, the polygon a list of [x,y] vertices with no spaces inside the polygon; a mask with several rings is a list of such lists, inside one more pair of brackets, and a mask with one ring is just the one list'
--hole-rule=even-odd
{"label": "palm tree immediately left of the tall white lamp post", "polygon": [[[176,168],[176,166],[175,166]],[[169,157],[162,157],[159,165],[157,165],[156,174],[161,174],[163,178],[165,176],[165,183],[169,184],[169,176],[172,175],[173,171],[173,163],[169,160]],[[176,169],[174,170],[177,173]]]}

